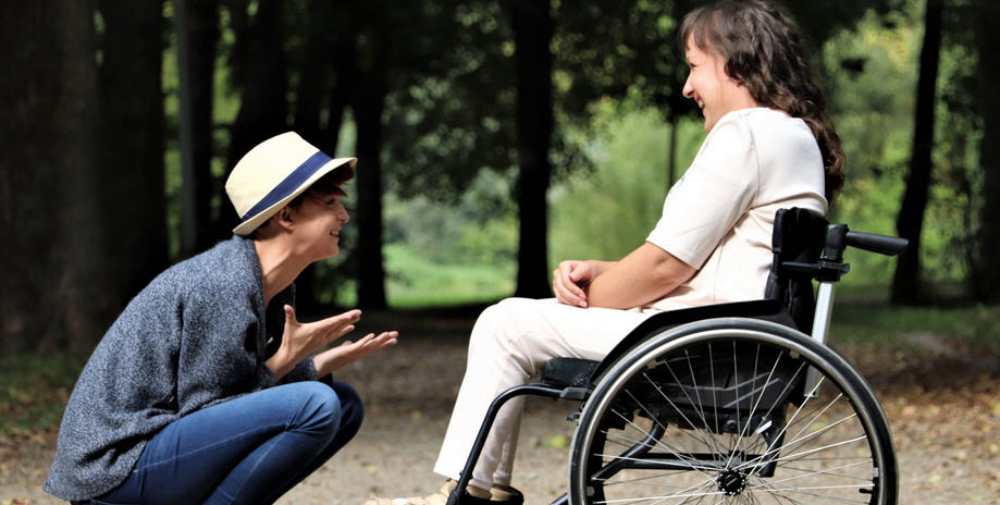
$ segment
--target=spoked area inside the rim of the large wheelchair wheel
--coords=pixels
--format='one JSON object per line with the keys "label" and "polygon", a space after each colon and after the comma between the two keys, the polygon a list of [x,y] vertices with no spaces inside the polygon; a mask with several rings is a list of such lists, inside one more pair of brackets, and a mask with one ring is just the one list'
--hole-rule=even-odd
{"label": "spoked area inside the rim of the large wheelchair wheel", "polygon": [[602,428],[591,454],[616,469],[591,480],[600,492],[589,503],[874,503],[877,461],[855,402],[825,373],[795,390],[810,367],[736,341],[650,361],[607,408],[602,426],[616,428]]}

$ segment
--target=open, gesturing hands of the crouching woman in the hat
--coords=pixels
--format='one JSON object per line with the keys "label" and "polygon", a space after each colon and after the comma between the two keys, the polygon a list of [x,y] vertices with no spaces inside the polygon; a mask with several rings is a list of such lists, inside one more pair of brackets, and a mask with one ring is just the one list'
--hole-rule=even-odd
{"label": "open, gesturing hands of the crouching woman in the hat", "polygon": [[[266,365],[274,377],[281,380],[295,368],[296,364],[353,331],[354,323],[360,318],[360,310],[350,310],[319,321],[300,323],[295,319],[295,309],[286,305],[285,331],[282,334],[281,346]],[[317,354],[312,358],[316,374],[317,377],[326,375],[376,350],[395,345],[398,336],[399,334],[395,331],[382,332],[379,335],[369,333],[357,342],[347,341]]]}

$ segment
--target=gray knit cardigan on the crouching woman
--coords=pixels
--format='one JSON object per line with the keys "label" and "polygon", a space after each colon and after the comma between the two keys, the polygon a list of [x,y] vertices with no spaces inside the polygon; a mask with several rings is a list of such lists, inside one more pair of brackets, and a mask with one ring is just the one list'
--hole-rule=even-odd
{"label": "gray knit cardigan on the crouching woman", "polygon": [[[285,290],[264,315],[254,241],[234,236],[157,276],[87,361],[59,430],[45,490],[86,500],[122,483],[146,442],[198,409],[275,385]],[[314,380],[311,359],[282,382]]]}

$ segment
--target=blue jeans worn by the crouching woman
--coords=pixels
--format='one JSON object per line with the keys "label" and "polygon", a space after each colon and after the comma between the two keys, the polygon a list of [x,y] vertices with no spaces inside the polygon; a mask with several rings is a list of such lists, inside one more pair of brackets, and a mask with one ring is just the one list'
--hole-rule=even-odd
{"label": "blue jeans worn by the crouching woman", "polygon": [[361,398],[333,384],[270,387],[177,419],[121,485],[82,503],[273,503],[358,432]]}

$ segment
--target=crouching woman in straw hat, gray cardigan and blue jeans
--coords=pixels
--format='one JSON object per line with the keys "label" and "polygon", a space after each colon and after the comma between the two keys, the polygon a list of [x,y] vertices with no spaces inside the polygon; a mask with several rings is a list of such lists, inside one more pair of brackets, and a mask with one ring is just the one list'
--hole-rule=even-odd
{"label": "crouching woman in straw hat, gray cardigan and blue jeans", "polygon": [[360,318],[295,317],[293,281],[338,251],[354,158],[295,133],[233,169],[234,236],[157,276],[108,330],[63,416],[45,489],[74,503],[273,503],[357,433],[331,372],[396,343],[322,350]]}

